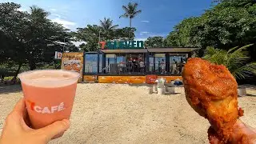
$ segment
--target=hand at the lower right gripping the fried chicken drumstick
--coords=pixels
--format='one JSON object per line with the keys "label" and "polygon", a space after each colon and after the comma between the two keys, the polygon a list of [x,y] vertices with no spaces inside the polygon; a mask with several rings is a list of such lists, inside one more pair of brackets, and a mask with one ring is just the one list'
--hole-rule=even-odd
{"label": "hand at the lower right gripping the fried chicken drumstick", "polygon": [[[217,134],[212,128],[208,130],[208,137],[211,144],[222,143],[222,139],[218,138]],[[256,129],[247,126],[245,123],[238,119],[234,124],[233,133],[230,135],[230,143],[255,144]]]}

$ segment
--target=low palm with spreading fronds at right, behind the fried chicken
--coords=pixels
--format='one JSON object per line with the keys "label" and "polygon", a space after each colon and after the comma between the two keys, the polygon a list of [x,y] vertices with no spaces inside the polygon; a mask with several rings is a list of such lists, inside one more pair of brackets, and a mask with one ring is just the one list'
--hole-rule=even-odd
{"label": "low palm with spreading fronds at right, behind the fried chicken", "polygon": [[234,47],[228,51],[214,49],[214,47],[206,48],[206,55],[203,57],[210,62],[218,65],[224,65],[234,75],[234,78],[245,79],[250,75],[256,75],[256,62],[248,63],[248,51],[246,48],[252,46],[247,45],[241,48]]}

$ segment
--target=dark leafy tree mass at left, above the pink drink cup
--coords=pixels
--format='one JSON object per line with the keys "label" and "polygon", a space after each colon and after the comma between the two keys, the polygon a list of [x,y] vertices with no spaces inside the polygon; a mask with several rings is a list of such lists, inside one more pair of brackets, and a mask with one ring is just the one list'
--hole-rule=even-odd
{"label": "dark leafy tree mass at left, above the pink drink cup", "polygon": [[31,6],[28,13],[18,10],[20,7],[13,2],[0,3],[0,58],[18,65],[14,78],[22,64],[34,70],[40,63],[52,62],[54,51],[62,50],[63,38],[67,44],[71,38],[62,25],[47,18],[45,10]]}

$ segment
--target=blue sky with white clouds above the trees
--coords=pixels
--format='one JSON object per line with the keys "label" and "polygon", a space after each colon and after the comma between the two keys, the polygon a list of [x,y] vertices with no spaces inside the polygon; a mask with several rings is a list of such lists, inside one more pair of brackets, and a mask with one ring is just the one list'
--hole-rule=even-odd
{"label": "blue sky with white clouds above the trees", "polygon": [[138,2],[142,13],[132,21],[137,28],[136,39],[144,40],[152,36],[163,36],[184,18],[198,16],[210,8],[212,0],[0,0],[22,5],[21,10],[29,10],[36,5],[50,12],[49,18],[62,23],[70,30],[98,24],[99,19],[111,18],[119,26],[129,26],[129,20],[119,18],[123,14],[122,5]]}

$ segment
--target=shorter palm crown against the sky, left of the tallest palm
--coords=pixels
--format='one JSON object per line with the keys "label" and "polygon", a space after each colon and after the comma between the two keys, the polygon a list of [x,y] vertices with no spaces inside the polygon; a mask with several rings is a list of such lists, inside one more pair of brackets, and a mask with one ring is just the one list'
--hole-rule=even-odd
{"label": "shorter palm crown against the sky, left of the tallest palm", "polygon": [[105,34],[106,39],[111,39],[114,37],[114,30],[118,27],[118,25],[113,25],[113,20],[110,18],[104,18],[104,20],[100,20],[100,26],[102,26],[102,32]]}

